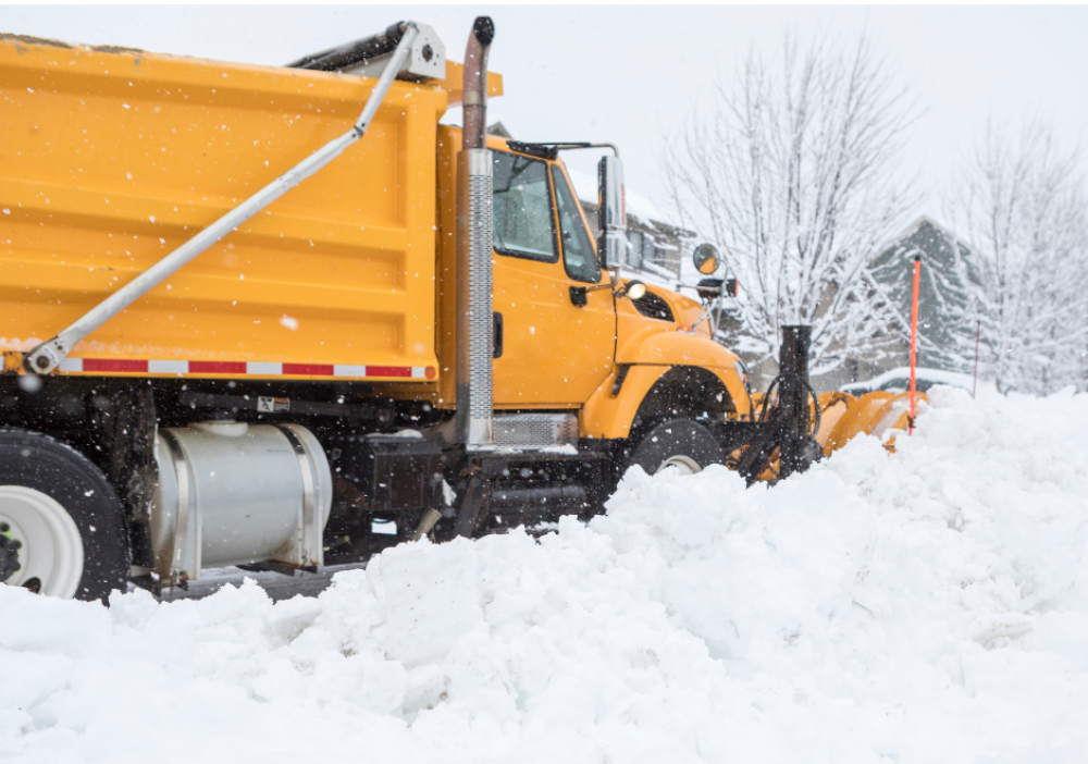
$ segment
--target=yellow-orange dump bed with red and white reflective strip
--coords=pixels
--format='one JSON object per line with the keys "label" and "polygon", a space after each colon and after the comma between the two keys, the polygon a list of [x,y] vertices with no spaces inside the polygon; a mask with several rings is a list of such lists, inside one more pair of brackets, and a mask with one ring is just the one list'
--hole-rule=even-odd
{"label": "yellow-orange dump bed with red and white reflective strip", "polygon": [[[376,82],[0,38],[0,349],[53,336],[343,134]],[[448,95],[394,83],[360,141],[77,344],[61,372],[434,378]]]}

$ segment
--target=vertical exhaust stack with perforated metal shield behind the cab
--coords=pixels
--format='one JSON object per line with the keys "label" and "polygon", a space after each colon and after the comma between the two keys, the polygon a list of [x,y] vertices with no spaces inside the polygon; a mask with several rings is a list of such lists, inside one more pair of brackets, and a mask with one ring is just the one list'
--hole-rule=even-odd
{"label": "vertical exhaust stack with perforated metal shield behind the cab", "polygon": [[492,445],[492,156],[487,128],[489,16],[472,24],[465,51],[465,128],[457,155],[457,440]]}

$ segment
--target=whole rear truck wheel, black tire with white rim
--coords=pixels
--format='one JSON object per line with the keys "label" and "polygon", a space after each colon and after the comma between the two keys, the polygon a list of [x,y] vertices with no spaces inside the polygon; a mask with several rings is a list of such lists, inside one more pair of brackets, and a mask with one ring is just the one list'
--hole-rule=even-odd
{"label": "whole rear truck wheel, black tire with white rim", "polygon": [[0,430],[2,526],[4,583],[77,600],[125,591],[124,510],[101,470],[73,448],[38,433]]}

